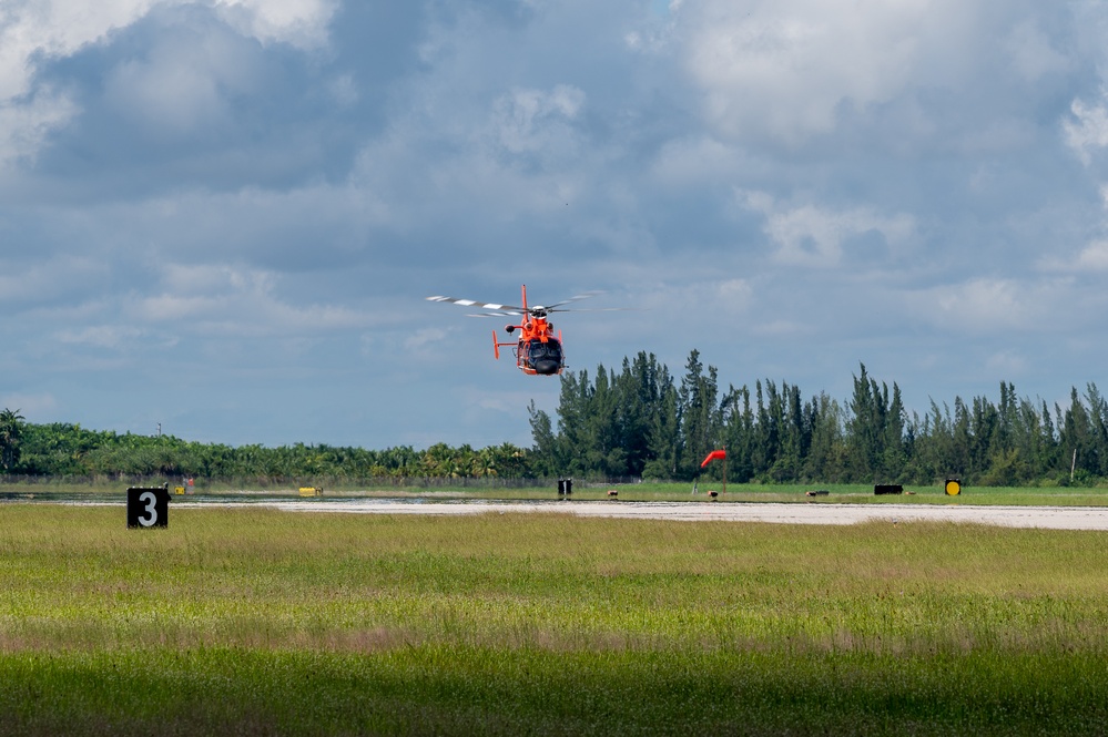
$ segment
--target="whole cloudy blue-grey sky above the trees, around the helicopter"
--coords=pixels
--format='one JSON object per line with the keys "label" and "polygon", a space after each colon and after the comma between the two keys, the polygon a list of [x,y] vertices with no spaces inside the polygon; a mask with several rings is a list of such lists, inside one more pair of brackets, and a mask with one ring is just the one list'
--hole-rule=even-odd
{"label": "whole cloudy blue-grey sky above the trees, around the helicopter", "polygon": [[1108,383],[1108,1],[0,0],[0,407],[531,444],[494,359]]}

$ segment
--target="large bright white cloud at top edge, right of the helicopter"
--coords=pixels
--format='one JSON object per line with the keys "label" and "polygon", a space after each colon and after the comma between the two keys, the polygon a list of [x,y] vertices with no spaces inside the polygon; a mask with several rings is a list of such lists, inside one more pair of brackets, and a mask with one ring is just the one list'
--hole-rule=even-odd
{"label": "large bright white cloud at top edge, right of the helicopter", "polygon": [[681,11],[711,124],[790,145],[830,131],[843,103],[864,109],[956,78],[976,13],[955,0],[716,0]]}

